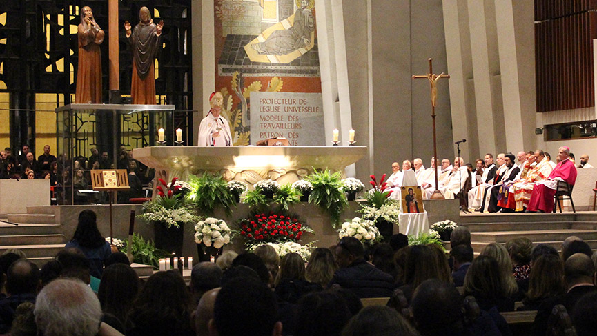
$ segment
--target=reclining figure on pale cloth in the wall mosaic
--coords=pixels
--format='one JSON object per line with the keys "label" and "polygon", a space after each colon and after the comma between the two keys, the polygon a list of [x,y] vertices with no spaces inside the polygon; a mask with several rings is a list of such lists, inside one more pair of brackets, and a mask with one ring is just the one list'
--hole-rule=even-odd
{"label": "reclining figure on pale cloth in the wall mosaic", "polygon": [[311,32],[315,29],[313,21],[313,1],[301,0],[300,8],[294,14],[294,23],[286,30],[275,30],[261,43],[253,44],[260,55],[286,55],[311,43]]}

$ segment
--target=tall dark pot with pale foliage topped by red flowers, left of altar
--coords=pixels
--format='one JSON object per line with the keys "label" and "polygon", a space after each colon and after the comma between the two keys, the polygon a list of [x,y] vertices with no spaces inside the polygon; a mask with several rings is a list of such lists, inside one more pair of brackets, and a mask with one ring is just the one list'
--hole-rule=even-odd
{"label": "tall dark pot with pale foliage topped by red flowers, left of altar", "polygon": [[157,197],[143,204],[143,213],[137,217],[153,224],[155,246],[169,253],[182,254],[182,239],[184,224],[194,223],[199,217],[193,213],[182,195],[177,194],[179,187],[175,185],[176,178],[168,187],[166,181],[159,179],[161,186],[157,186]]}

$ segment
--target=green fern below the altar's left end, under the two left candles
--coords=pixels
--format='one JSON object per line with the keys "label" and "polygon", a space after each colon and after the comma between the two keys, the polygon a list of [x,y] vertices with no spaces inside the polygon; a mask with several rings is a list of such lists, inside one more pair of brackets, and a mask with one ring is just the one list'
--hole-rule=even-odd
{"label": "green fern below the altar's left end, under the two left candles", "polygon": [[215,208],[221,206],[230,215],[236,206],[234,196],[228,191],[228,183],[220,175],[205,173],[200,177],[190,177],[190,199],[197,206],[200,215],[213,215]]}

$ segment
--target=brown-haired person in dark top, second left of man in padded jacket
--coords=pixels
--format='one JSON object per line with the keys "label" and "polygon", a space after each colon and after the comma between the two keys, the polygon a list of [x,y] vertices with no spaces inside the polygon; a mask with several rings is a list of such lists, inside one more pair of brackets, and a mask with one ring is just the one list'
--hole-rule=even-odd
{"label": "brown-haired person in dark top, second left of man in padded jacket", "polygon": [[306,293],[322,289],[320,284],[305,280],[304,260],[298,253],[287,253],[282,257],[275,279],[275,294],[279,299],[295,304]]}

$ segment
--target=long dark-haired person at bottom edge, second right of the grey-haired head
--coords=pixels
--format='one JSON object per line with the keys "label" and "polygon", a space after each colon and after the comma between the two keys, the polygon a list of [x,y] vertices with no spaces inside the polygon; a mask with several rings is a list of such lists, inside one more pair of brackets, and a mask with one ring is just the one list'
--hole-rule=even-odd
{"label": "long dark-haired person at bottom edge, second right of the grey-haired head", "polygon": [[126,319],[126,335],[195,335],[190,326],[192,310],[190,293],[178,270],[155,273],[133,302]]}

